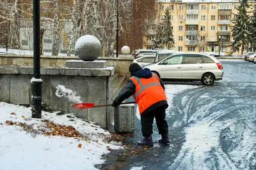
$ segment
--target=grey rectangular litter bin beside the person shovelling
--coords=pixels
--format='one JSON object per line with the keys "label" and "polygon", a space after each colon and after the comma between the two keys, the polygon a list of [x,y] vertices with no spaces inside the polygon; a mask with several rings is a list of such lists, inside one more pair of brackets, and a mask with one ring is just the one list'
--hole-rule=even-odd
{"label": "grey rectangular litter bin beside the person shovelling", "polygon": [[132,133],[135,129],[135,104],[124,104],[115,107],[115,131],[116,133]]}

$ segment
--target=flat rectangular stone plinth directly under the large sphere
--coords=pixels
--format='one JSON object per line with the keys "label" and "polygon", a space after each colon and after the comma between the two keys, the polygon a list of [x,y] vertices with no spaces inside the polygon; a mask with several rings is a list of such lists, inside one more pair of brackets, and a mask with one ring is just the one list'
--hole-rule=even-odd
{"label": "flat rectangular stone plinth directly under the large sphere", "polygon": [[71,68],[106,68],[106,60],[93,60],[93,61],[83,61],[83,60],[67,60],[66,67]]}

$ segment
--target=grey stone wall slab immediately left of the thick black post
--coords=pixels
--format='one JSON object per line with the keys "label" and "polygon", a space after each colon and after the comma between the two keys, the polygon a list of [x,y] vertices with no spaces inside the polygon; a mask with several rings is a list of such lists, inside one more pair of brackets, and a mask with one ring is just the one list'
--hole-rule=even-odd
{"label": "grey stone wall slab immediately left of the thick black post", "polygon": [[10,103],[29,104],[30,80],[29,75],[10,75]]}

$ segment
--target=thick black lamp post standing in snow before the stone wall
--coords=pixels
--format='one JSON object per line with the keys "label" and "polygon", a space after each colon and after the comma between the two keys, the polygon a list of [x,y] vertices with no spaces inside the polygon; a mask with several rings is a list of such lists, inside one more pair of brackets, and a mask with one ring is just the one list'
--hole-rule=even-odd
{"label": "thick black lamp post standing in snow before the stone wall", "polygon": [[42,118],[42,83],[40,78],[40,0],[33,0],[33,73],[31,79],[32,117]]}

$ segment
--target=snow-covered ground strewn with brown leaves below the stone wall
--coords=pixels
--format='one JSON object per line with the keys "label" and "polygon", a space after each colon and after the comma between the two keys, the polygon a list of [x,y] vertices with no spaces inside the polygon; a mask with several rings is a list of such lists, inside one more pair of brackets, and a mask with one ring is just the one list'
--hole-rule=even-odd
{"label": "snow-covered ground strewn with brown leaves below the stone wall", "polygon": [[36,119],[31,108],[3,102],[0,110],[1,170],[96,169],[102,155],[123,148],[108,131],[74,115],[43,111]]}

